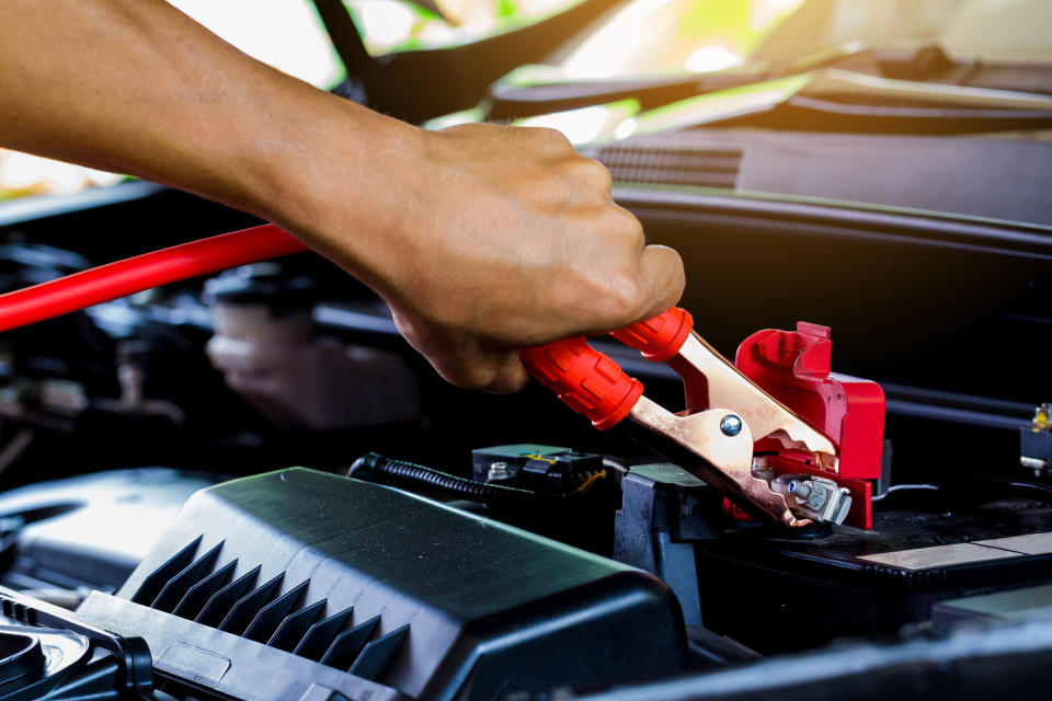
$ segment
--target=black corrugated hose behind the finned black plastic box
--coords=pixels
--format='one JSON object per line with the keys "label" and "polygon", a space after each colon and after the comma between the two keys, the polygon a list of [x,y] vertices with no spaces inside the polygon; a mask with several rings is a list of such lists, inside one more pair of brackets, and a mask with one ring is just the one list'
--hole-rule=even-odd
{"label": "black corrugated hose behind the finned black plastic box", "polygon": [[422,464],[387,458],[376,452],[367,452],[355,460],[347,471],[347,476],[391,486],[425,487],[457,498],[481,502],[491,506],[536,505],[538,501],[565,502],[580,496],[576,492],[546,494],[514,486],[476,482]]}

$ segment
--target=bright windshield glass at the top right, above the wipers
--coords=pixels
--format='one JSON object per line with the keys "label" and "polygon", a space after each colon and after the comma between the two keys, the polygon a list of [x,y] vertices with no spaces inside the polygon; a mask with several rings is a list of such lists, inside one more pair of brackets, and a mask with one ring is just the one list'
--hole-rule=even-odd
{"label": "bright windshield glass at the top right, above the wipers", "polygon": [[848,44],[1052,64],[1049,0],[631,0],[562,62],[569,77],[787,64]]}

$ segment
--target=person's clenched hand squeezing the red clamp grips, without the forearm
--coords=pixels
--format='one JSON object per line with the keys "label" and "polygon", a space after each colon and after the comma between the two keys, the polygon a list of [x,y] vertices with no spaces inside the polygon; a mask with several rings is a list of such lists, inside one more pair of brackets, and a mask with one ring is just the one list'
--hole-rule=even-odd
{"label": "person's clenched hand squeezing the red clamp grips, without the forearm", "polygon": [[414,165],[386,184],[399,226],[368,246],[365,277],[448,381],[515,391],[527,381],[519,348],[619,329],[679,299],[678,254],[645,245],[606,169],[558,131],[420,135]]}

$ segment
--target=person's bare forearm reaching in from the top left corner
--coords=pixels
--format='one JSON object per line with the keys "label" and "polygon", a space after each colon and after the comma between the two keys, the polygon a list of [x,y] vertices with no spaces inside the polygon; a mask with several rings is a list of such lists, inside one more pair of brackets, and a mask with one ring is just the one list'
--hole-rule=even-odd
{"label": "person's bare forearm reaching in from the top left corner", "polygon": [[0,3],[2,146],[190,189],[309,238],[312,199],[331,188],[312,182],[327,176],[321,160],[339,151],[339,177],[366,203],[379,194],[366,169],[409,129],[241,54],[162,0]]}

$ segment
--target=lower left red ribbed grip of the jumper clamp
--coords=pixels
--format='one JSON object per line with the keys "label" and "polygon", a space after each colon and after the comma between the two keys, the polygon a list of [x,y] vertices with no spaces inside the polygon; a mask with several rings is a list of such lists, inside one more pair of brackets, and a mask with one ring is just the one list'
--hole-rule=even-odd
{"label": "lower left red ribbed grip of the jumper clamp", "polygon": [[570,409],[606,430],[617,425],[643,393],[643,384],[588,345],[584,336],[524,348],[523,364]]}

